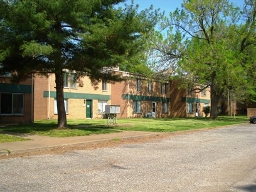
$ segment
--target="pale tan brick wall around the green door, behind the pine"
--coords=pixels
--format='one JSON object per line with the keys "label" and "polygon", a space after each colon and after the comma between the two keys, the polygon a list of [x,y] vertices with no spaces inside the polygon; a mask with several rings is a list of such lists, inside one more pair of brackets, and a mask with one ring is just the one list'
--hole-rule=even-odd
{"label": "pale tan brick wall around the green door, behind the pine", "polygon": [[[110,95],[110,84],[107,84],[107,90],[102,90],[102,83],[92,85],[88,77],[84,77],[77,83],[77,88],[65,87],[64,93],[80,93],[95,95]],[[54,113],[54,98],[44,97],[43,92],[56,92],[55,75],[50,74],[48,77],[36,75],[35,77],[35,119],[57,119],[58,115]],[[86,100],[68,99],[67,119],[85,119],[86,118]],[[90,99],[91,100],[91,99]],[[109,101],[108,101],[109,102]],[[103,118],[103,114],[98,114],[98,100],[92,100],[92,118]]]}

